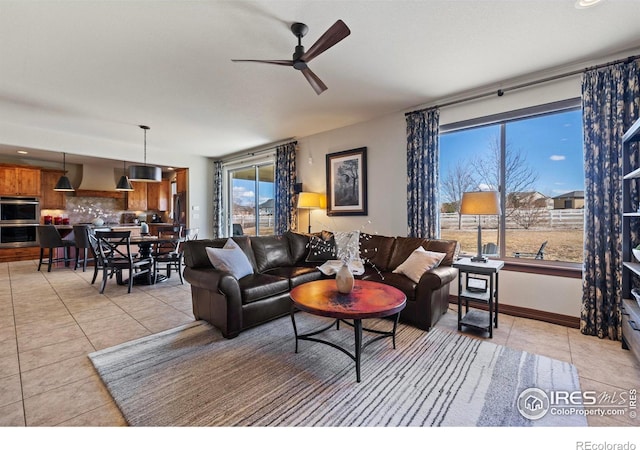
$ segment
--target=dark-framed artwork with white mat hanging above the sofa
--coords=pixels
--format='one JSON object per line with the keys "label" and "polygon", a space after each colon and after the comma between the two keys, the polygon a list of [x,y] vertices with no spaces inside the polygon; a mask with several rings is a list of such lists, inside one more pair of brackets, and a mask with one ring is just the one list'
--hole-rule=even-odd
{"label": "dark-framed artwork with white mat hanging above the sofa", "polygon": [[367,147],[326,156],[327,215],[366,216]]}

